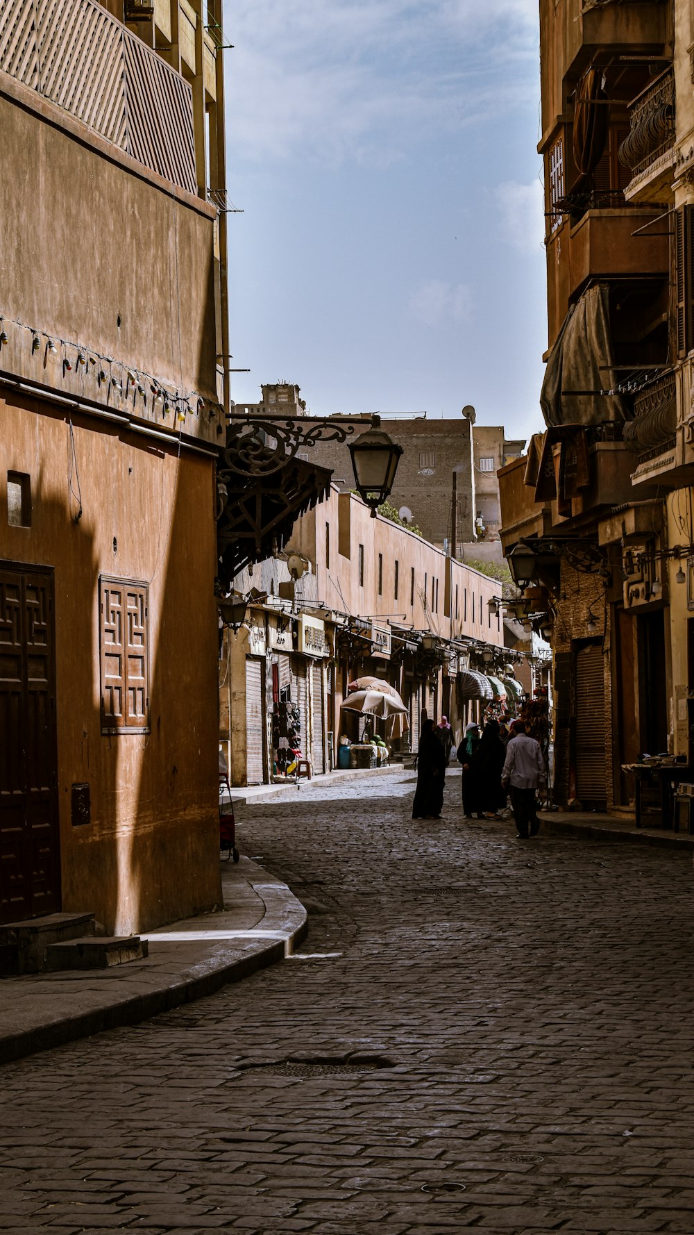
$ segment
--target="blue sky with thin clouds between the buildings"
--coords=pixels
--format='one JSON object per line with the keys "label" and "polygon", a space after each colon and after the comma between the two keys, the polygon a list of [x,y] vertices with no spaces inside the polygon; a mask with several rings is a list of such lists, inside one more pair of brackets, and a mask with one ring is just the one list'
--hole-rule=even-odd
{"label": "blue sky with thin clouds between the buildings", "polygon": [[537,7],[225,0],[237,404],[541,427]]}

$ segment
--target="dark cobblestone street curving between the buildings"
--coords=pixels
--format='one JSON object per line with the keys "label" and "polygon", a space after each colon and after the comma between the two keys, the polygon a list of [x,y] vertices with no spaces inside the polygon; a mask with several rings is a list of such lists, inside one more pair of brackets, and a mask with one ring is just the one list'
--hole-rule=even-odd
{"label": "dark cobblestone street curving between the buildings", "polygon": [[0,1233],[694,1235],[690,861],[411,789],[243,808],[309,939],[5,1067]]}

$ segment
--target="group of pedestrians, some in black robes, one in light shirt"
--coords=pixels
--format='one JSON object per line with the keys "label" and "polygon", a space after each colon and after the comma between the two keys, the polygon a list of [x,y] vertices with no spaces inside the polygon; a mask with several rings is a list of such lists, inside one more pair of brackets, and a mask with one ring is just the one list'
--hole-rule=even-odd
{"label": "group of pedestrians, some in black robes, one in light shirt", "polygon": [[[454,745],[446,716],[438,726],[425,720],[417,755],[417,788],[412,819],[440,819],[443,809],[446,767]],[[463,813],[466,819],[499,819],[510,794],[519,840],[540,830],[536,794],[545,784],[545,760],[540,743],[530,737],[524,720],[515,720],[503,732],[498,720],[484,729],[469,724],[457,748],[463,768]]]}

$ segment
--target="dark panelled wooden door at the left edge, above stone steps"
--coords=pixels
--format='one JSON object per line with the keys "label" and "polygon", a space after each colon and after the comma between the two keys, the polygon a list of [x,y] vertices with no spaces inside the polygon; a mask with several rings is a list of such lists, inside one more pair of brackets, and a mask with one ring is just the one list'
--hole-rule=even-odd
{"label": "dark panelled wooden door at the left edge, above stone steps", "polygon": [[61,908],[53,576],[0,569],[0,921]]}

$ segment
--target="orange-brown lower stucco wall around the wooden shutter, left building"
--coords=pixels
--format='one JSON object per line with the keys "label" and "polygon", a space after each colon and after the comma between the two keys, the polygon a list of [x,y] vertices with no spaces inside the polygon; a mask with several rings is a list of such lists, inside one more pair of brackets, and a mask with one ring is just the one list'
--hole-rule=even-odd
{"label": "orange-brown lower stucco wall around the wooden shutter, left building", "polygon": [[[75,414],[73,425],[79,522],[65,414],[0,393],[0,558],[54,569],[63,909],[120,934],[221,899],[212,462]],[[31,477],[31,527],[7,525],[7,469]],[[148,735],[101,734],[101,573],[149,584]],[[80,827],[75,782],[91,792]]]}

